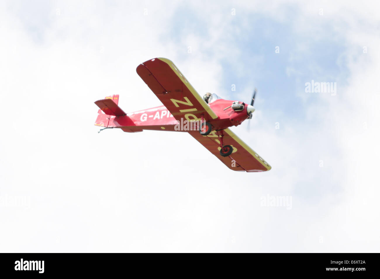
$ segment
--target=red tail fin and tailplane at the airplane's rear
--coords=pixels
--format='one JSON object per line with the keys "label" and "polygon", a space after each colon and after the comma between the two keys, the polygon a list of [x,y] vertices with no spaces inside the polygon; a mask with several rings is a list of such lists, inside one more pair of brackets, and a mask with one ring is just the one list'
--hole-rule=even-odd
{"label": "red tail fin and tailplane at the airplane's rear", "polygon": [[121,116],[126,115],[117,105],[119,103],[119,95],[107,96],[102,100],[98,100],[95,104],[99,107],[98,117],[95,121],[95,126],[108,127],[109,118],[111,115]]}

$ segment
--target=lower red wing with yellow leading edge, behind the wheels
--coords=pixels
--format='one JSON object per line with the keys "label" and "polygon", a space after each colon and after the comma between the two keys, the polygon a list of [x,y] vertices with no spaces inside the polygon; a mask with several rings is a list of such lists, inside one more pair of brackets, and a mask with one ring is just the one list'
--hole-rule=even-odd
{"label": "lower red wing with yellow leading edge, behind the wheels", "polygon": [[255,151],[246,143],[237,137],[229,128],[218,132],[223,133],[223,144],[231,145],[233,153],[228,157],[220,155],[220,137],[216,131],[212,131],[208,136],[202,136],[199,131],[189,131],[198,142],[206,147],[212,154],[223,162],[231,170],[239,172],[266,172],[272,167],[264,161]]}

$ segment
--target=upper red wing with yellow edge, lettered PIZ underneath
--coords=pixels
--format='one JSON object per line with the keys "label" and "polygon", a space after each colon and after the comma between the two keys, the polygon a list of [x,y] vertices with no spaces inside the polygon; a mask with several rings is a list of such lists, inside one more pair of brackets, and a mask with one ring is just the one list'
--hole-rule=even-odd
{"label": "upper red wing with yellow edge, lettered PIZ underneath", "polygon": [[136,72],[176,120],[201,120],[201,115],[206,121],[218,118],[169,59],[145,61]]}

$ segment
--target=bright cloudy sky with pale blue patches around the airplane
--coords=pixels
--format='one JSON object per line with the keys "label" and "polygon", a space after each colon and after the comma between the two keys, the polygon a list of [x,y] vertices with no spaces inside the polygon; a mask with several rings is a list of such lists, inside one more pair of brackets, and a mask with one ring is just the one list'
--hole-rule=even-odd
{"label": "bright cloudy sky with pale blue patches around the airplane", "polygon": [[[379,5],[0,1],[0,252],[379,252]],[[136,74],[155,57],[200,95],[258,88],[231,129],[272,169],[97,133],[98,99],[161,105]]]}

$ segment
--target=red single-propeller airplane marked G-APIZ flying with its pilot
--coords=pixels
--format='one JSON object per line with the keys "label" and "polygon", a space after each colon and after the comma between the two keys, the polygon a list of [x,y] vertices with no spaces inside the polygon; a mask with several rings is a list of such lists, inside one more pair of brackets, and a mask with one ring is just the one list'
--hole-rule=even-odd
{"label": "red single-propeller airplane marked G-APIZ flying with its pilot", "polygon": [[118,106],[119,95],[107,96],[95,102],[99,107],[96,126],[124,132],[188,132],[231,170],[265,172],[272,168],[230,129],[252,118],[256,91],[250,104],[211,93],[202,98],[167,58],[145,61],[136,72],[163,106],[125,113]]}

